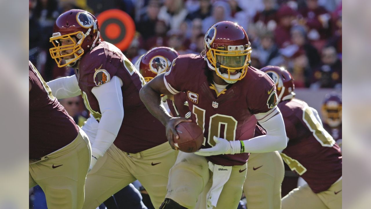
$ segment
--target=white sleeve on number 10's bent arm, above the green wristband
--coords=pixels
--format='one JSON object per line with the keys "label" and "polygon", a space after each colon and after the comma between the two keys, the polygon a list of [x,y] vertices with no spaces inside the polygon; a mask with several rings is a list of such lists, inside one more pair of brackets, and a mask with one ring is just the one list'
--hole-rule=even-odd
{"label": "white sleeve on number 10's bent arm, above the green wristband", "polygon": [[286,148],[287,137],[282,114],[279,111],[278,107],[273,110],[273,112],[267,112],[267,115],[269,114],[272,115],[269,119],[265,120],[264,122],[259,122],[260,125],[267,131],[267,135],[257,136],[249,140],[244,140],[243,143],[245,152],[273,152]]}

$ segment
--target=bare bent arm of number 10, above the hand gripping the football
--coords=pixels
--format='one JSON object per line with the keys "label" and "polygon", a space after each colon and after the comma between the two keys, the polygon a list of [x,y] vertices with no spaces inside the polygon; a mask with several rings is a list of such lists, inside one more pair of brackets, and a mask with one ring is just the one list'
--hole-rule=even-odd
{"label": "bare bent arm of number 10, above the hand gripping the football", "polygon": [[161,105],[161,94],[171,94],[164,84],[163,74],[156,76],[139,91],[140,99],[148,111],[166,126],[166,123],[173,117]]}

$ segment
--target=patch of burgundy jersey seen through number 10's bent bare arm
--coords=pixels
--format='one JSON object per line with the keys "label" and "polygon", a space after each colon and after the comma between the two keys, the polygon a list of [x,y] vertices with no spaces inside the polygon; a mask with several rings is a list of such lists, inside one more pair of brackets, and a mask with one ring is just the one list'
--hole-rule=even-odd
{"label": "patch of burgundy jersey seen through number 10's bent bare arm", "polygon": [[174,102],[171,99],[166,100],[167,105],[169,106],[170,112],[174,117],[185,118],[185,115],[188,114],[188,102],[187,94],[180,92],[174,95]]}

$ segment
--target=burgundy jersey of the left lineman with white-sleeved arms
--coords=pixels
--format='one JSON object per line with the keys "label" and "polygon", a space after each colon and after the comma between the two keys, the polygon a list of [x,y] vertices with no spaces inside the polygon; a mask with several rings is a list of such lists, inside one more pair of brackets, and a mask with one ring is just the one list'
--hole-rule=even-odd
{"label": "burgundy jersey of the left lineman with white-sleeved arms", "polygon": [[165,127],[148,112],[139,98],[144,78],[116,46],[100,42],[83,56],[75,73],[85,106],[98,122],[101,110],[92,88],[104,85],[113,76],[122,80],[124,119],[114,141],[119,149],[137,153],[167,142]]}

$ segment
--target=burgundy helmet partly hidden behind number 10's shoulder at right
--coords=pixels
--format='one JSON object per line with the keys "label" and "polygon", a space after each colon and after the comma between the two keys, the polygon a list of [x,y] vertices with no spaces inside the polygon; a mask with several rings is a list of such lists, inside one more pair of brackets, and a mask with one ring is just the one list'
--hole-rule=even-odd
{"label": "burgundy helmet partly hidden behind number 10's shoulder at right", "polygon": [[291,99],[295,96],[294,79],[285,68],[269,65],[260,70],[268,74],[269,77],[272,78],[273,82],[275,82],[278,102]]}

